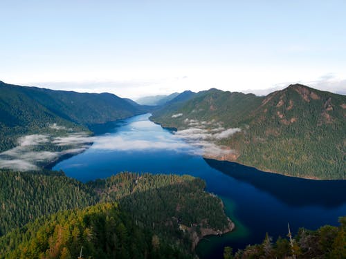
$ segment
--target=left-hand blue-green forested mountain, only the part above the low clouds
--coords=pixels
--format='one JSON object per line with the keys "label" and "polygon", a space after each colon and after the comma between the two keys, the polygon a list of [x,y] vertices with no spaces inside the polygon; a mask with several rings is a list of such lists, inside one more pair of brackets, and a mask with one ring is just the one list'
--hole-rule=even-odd
{"label": "left-hand blue-green forested mountain, only the part above the low clouds", "polygon": [[15,86],[0,81],[0,151],[16,146],[24,134],[51,132],[51,125],[87,131],[101,124],[144,113],[109,93],[75,93]]}

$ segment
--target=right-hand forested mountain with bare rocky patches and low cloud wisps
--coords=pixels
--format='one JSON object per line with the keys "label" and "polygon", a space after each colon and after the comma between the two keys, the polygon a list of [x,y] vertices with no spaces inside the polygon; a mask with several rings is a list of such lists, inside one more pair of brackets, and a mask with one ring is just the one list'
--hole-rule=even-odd
{"label": "right-hand forested mountain with bare rocky patches and low cloud wisps", "polygon": [[345,117],[345,95],[295,84],[265,97],[210,89],[164,106],[152,120],[198,128],[203,140],[222,149],[207,157],[304,178],[346,179]]}

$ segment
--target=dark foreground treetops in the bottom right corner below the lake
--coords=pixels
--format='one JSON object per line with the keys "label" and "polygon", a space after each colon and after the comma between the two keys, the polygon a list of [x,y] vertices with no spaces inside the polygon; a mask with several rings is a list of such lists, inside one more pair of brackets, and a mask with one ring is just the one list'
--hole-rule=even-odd
{"label": "dark foreground treetops in the bottom right corner below the lake", "polygon": [[225,259],[246,258],[346,258],[346,217],[339,218],[340,227],[323,226],[316,231],[300,229],[292,239],[278,238],[275,242],[266,234],[262,244],[253,244],[244,250],[236,251],[235,256],[232,249],[224,249]]}

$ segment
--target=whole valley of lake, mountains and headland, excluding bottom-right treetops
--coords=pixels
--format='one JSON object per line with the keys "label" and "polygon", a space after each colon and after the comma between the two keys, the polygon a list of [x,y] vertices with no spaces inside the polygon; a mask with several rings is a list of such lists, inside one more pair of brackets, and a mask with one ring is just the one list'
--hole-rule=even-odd
{"label": "whole valley of lake, mountains and headland, excluding bottom-right treetops", "polygon": [[343,95],[210,89],[141,106],[0,89],[3,258],[69,258],[81,246],[105,258],[223,258],[267,232],[286,236],[287,222],[296,234],[346,214]]}

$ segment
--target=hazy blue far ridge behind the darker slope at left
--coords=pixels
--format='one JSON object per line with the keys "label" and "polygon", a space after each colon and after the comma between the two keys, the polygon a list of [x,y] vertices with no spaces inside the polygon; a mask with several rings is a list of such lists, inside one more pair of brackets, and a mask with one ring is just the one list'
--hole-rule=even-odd
{"label": "hazy blue far ridge behind the darker slope at left", "polygon": [[[52,113],[78,124],[100,124],[139,113],[125,99],[109,93],[76,93],[64,90],[0,84],[3,90],[26,95]],[[1,99],[6,96],[1,95]]]}

